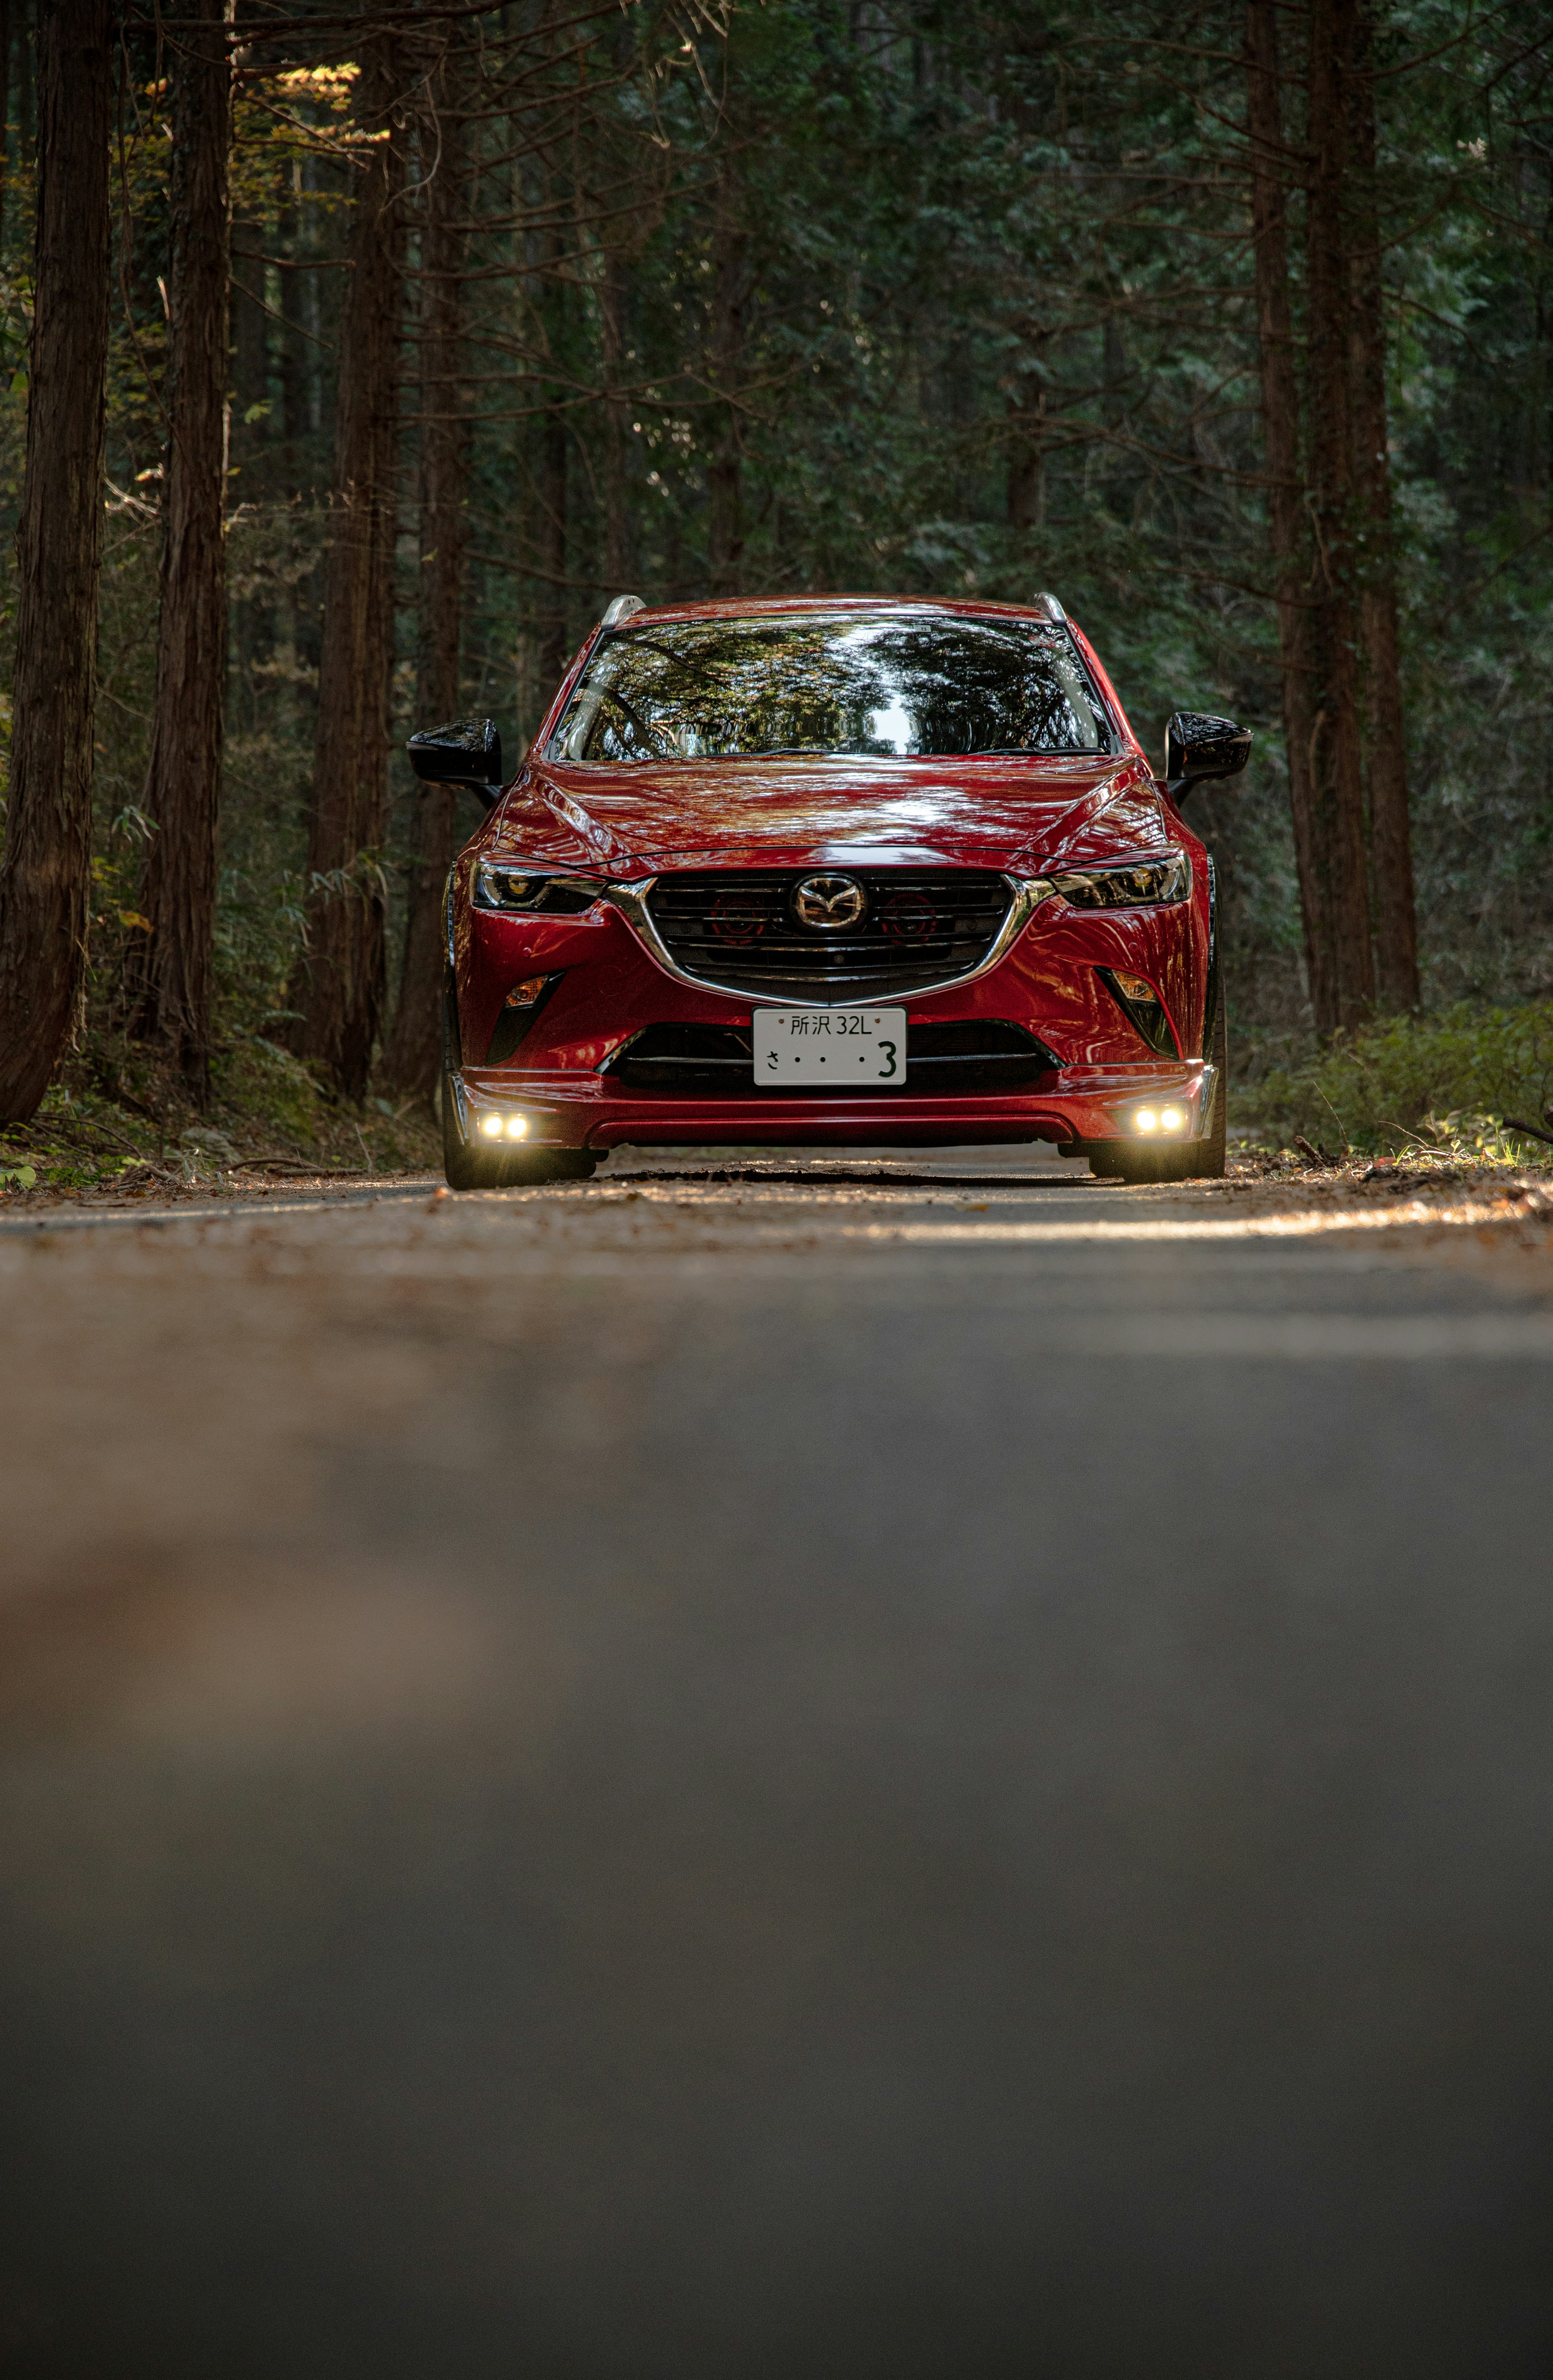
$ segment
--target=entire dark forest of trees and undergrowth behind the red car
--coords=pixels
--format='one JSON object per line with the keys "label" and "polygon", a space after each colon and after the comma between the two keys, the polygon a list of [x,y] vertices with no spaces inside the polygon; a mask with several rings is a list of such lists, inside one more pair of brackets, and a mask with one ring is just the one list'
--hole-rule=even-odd
{"label": "entire dark forest of trees and undergrowth behind the red car", "polygon": [[624,590],[1053,588],[1255,728],[1231,1123],[1541,1116],[1536,0],[0,0],[0,1176],[414,1159],[403,740]]}

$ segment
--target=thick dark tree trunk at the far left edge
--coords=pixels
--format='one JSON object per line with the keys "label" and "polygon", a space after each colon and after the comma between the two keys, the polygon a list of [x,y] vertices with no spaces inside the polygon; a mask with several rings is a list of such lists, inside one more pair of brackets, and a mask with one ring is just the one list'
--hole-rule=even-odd
{"label": "thick dark tree trunk at the far left edge", "polygon": [[0,854],[0,1116],[48,1090],[86,985],[102,407],[110,0],[38,12],[38,233]]}

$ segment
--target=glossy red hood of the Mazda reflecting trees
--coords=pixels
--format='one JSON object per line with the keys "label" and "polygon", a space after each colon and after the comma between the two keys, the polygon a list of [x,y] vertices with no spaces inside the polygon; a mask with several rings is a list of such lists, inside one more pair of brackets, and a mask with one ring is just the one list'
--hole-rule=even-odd
{"label": "glossy red hood of the Mazda reflecting trees", "polygon": [[1041,873],[1170,840],[1143,759],[741,759],[522,769],[493,857],[650,876],[707,866],[988,866]]}

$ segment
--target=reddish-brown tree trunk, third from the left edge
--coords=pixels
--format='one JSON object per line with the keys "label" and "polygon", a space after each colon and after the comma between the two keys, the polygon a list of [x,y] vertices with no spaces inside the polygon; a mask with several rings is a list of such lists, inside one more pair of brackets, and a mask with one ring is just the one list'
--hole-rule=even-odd
{"label": "reddish-brown tree trunk, third from the left edge", "polygon": [[405,240],[393,38],[374,33],[360,55],[357,124],[388,138],[367,150],[350,226],[307,840],[314,897],[298,1002],[298,1052],[326,1066],[350,1100],[367,1090],[383,1009],[383,885],[374,854],[388,809]]}

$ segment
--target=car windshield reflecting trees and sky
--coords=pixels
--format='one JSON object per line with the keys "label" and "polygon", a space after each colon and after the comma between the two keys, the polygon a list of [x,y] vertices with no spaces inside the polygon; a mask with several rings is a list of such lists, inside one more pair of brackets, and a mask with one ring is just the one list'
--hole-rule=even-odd
{"label": "car windshield reflecting trees and sky", "polygon": [[1110,750],[1065,628],[900,612],[624,628],[550,738],[584,762]]}

